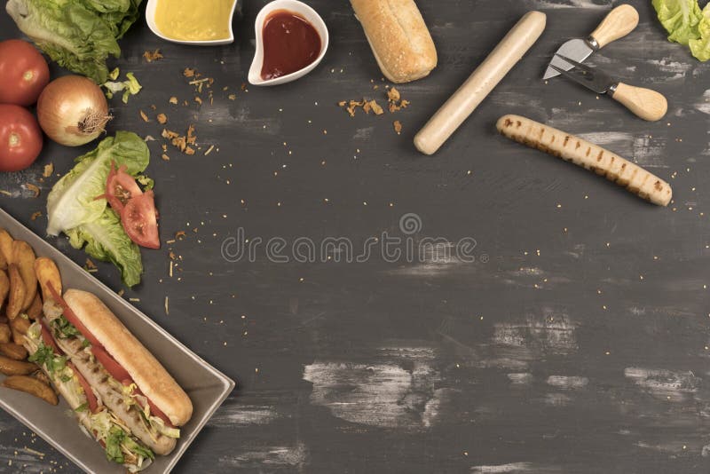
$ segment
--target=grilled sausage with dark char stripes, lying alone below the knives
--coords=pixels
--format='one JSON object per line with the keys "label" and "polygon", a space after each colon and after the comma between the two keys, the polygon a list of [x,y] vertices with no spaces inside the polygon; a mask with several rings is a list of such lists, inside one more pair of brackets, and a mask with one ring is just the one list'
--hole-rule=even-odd
{"label": "grilled sausage with dark char stripes, lying alone below the knives", "polygon": [[659,206],[667,206],[673,197],[671,186],[663,179],[582,138],[519,115],[502,116],[496,128],[518,143],[594,171]]}

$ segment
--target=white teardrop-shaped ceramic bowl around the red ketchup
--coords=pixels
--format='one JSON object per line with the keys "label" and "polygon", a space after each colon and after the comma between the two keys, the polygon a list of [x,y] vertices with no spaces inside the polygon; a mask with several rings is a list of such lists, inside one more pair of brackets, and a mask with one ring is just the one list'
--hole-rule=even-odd
{"label": "white teardrop-shaped ceramic bowl around the red ketchup", "polygon": [[[264,81],[264,79],[261,78],[261,69],[264,66],[264,37],[262,36],[262,32],[264,30],[264,20],[266,20],[266,17],[269,16],[269,13],[275,10],[288,10],[289,12],[297,13],[304,17],[305,20],[308,20],[320,36],[320,54],[311,64],[299,71],[296,71],[295,73],[282,75],[275,79],[267,79]],[[310,6],[304,4],[303,2],[299,2],[298,0],[273,0],[272,3],[264,5],[261,12],[256,15],[254,30],[256,32],[256,52],[254,53],[254,60],[251,61],[251,67],[249,67],[248,74],[248,81],[251,84],[278,85],[296,81],[296,79],[310,73],[316,66],[319,65],[320,61],[323,59],[323,56],[326,55],[328,42],[326,22],[323,21],[323,19],[320,18],[320,15]]]}

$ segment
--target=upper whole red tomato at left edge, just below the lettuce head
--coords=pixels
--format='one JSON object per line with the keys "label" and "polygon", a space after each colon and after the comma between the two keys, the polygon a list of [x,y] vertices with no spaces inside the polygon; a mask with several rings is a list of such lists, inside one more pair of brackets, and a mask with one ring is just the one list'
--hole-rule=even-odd
{"label": "upper whole red tomato at left edge, just below the lettuce head", "polygon": [[31,106],[50,82],[50,68],[32,44],[0,42],[0,104]]}

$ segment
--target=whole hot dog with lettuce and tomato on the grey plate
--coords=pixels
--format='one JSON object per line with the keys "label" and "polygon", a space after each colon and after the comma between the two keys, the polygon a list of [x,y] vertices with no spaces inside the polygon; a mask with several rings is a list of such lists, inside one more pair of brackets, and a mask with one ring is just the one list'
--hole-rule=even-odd
{"label": "whole hot dog with lettuce and tomato on the grey plate", "polygon": [[[193,413],[185,391],[97,296],[69,289],[37,320],[25,347],[106,458],[132,472],[170,454]],[[46,314],[46,313],[45,313]]]}

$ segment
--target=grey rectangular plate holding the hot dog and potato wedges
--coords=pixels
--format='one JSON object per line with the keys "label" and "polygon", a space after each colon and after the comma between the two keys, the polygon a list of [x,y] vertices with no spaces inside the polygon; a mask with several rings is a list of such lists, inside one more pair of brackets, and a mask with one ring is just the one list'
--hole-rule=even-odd
{"label": "grey rectangular plate holding the hot dog and potato wedges", "polygon": [[[194,408],[193,417],[181,427],[175,450],[169,456],[155,456],[153,464],[144,470],[149,474],[170,472],[217,407],[233,390],[234,381],[180,344],[153,320],[21,225],[4,209],[0,209],[0,227],[7,230],[14,239],[27,241],[35,249],[37,257],[50,257],[54,260],[59,266],[64,288],[83,289],[99,296],[190,397]],[[4,375],[0,375],[0,380],[3,378]],[[52,407],[28,393],[0,387],[0,407],[35,431],[82,470],[116,474],[125,472],[121,465],[107,461],[99,443],[80,430],[75,417],[67,414],[69,406],[61,397],[59,406]]]}

